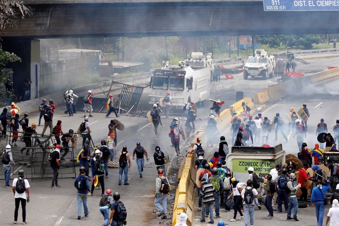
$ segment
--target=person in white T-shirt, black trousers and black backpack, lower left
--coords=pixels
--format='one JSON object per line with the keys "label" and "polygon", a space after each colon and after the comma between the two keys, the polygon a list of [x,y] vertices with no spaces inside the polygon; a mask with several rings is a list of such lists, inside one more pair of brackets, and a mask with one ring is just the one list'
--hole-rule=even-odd
{"label": "person in white T-shirt, black trousers and black backpack, lower left", "polygon": [[15,210],[14,210],[14,224],[17,224],[18,221],[18,211],[19,211],[19,204],[21,202],[22,208],[22,216],[23,216],[23,225],[27,224],[26,221],[26,202],[29,202],[29,183],[28,180],[25,179],[25,171],[24,169],[20,169],[18,171],[18,178],[14,178],[12,184],[12,191],[15,198]]}

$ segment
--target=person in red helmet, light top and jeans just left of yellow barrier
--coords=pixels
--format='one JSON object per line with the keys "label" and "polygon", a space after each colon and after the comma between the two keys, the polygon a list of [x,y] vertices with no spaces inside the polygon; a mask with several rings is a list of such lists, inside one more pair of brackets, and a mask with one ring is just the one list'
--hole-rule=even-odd
{"label": "person in red helmet, light top and jeans just left of yellow barrier", "polygon": [[158,169],[158,177],[155,179],[154,205],[159,212],[158,217],[162,216],[161,219],[167,219],[167,196],[169,195],[170,184],[163,172],[163,169]]}

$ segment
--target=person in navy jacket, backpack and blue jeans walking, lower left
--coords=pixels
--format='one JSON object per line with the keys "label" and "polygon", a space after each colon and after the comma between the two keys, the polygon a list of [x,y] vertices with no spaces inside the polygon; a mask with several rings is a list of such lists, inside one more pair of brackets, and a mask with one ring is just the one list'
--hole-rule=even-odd
{"label": "person in navy jacket, backpack and blue jeans walking, lower left", "polygon": [[78,200],[78,220],[81,218],[81,206],[84,205],[84,214],[85,217],[88,216],[89,211],[87,208],[87,193],[90,192],[88,176],[85,175],[85,167],[81,166],[80,174],[74,180],[74,187],[77,191],[77,200]]}

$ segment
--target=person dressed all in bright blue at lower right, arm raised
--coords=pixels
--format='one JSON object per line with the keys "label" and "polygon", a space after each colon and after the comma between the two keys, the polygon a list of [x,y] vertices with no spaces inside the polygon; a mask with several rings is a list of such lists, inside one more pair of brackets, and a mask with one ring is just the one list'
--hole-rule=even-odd
{"label": "person dressed all in bright blue at lower right, arm raised", "polygon": [[317,226],[322,226],[322,222],[324,219],[324,213],[325,213],[325,202],[327,204],[327,200],[325,200],[326,191],[330,189],[331,189],[331,186],[329,185],[329,183],[325,181],[325,185],[322,185],[322,181],[319,178],[316,181],[316,187],[313,188],[312,190],[311,204],[312,206],[315,206]]}

